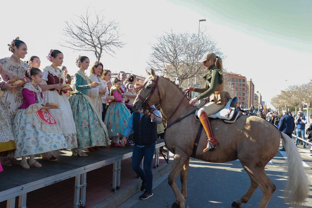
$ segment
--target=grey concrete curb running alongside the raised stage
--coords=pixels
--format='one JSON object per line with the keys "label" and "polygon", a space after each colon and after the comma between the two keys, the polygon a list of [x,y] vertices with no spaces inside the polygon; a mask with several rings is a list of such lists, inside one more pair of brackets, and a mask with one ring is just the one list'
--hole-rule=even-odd
{"label": "grey concrete curb running alongside the raised stage", "polygon": [[[158,177],[162,176],[164,173],[166,173],[168,170],[171,169],[173,165],[173,161],[169,160],[169,163],[162,165],[161,167],[158,167],[156,170],[153,171],[153,181],[155,181]],[[129,198],[134,196],[136,193],[140,191],[142,181],[136,181],[130,184],[129,186],[126,186],[123,189],[120,189],[115,194],[111,195],[110,197],[107,197],[100,203],[93,206],[93,208],[112,208],[117,207],[127,201]]]}

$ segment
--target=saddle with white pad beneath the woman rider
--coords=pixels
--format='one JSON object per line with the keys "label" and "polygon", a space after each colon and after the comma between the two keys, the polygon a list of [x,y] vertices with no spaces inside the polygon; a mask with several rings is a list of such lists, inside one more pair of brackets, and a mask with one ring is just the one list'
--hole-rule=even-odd
{"label": "saddle with white pad beneath the woman rider", "polygon": [[[209,99],[202,99],[197,106],[197,110],[195,112],[196,119],[197,119],[197,111],[207,104],[209,102]],[[237,109],[238,106],[238,98],[234,97],[231,98],[227,104],[224,106],[223,109],[221,109],[219,112],[209,115],[209,118],[212,119],[221,119],[226,123],[234,123],[236,119],[241,115],[241,111]]]}

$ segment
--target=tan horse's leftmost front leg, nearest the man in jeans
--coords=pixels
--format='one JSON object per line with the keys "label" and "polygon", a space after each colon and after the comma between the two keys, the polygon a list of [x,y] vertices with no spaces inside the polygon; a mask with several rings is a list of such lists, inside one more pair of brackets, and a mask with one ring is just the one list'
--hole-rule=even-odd
{"label": "tan horse's leftmost front leg, nearest the man in jeans", "polygon": [[185,208],[185,198],[178,189],[175,181],[188,159],[189,157],[186,157],[184,153],[180,154],[176,151],[176,154],[174,155],[173,166],[168,176],[168,184],[171,186],[173,193],[176,196],[176,202],[173,203],[172,207],[177,207],[180,205],[180,208]]}

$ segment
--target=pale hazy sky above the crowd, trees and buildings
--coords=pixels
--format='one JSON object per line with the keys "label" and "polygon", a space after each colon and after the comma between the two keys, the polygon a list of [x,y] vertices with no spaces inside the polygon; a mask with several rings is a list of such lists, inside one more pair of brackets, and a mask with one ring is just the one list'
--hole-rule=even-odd
{"label": "pale hazy sky above the crowd, trees and buildings", "polygon": [[[76,58],[95,56],[59,45],[65,21],[76,21],[86,7],[104,10],[107,20],[120,24],[120,39],[126,45],[114,56],[104,55],[101,62],[113,72],[126,71],[144,75],[152,53],[155,36],[171,29],[174,32],[211,36],[226,56],[227,71],[252,79],[262,100],[270,101],[289,85],[302,84],[311,78],[312,1],[310,0],[158,0],[158,1],[10,1],[2,2],[0,57],[11,56],[7,44],[17,36],[27,44],[28,54],[41,58],[41,69],[49,65],[50,49],[64,54],[70,74],[78,68]],[[12,8],[12,9],[11,9]],[[286,81],[287,80],[287,81]]]}

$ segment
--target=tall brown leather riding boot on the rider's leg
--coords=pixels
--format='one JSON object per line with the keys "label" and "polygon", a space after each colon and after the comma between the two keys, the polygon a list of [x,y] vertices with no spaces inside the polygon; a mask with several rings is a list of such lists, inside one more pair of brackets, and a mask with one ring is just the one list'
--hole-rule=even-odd
{"label": "tall brown leather riding boot on the rider's leg", "polygon": [[208,119],[208,116],[206,112],[202,112],[199,117],[200,122],[202,123],[202,126],[204,127],[206,134],[207,134],[207,147],[203,150],[203,152],[206,152],[207,150],[213,151],[215,147],[219,145],[216,138],[214,138],[212,133],[212,128],[210,125],[210,121]]}

